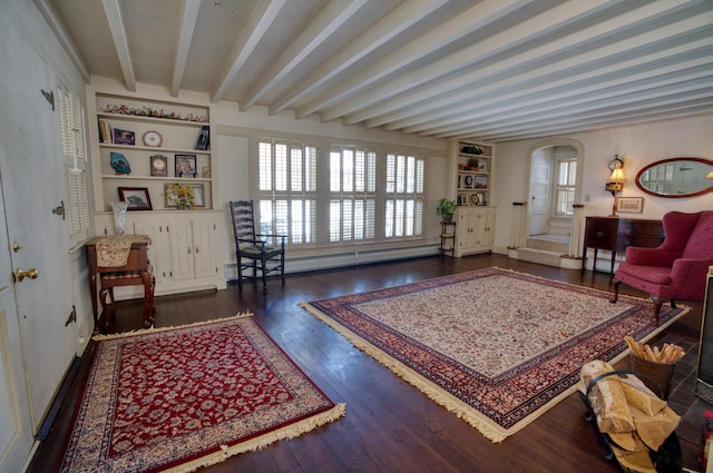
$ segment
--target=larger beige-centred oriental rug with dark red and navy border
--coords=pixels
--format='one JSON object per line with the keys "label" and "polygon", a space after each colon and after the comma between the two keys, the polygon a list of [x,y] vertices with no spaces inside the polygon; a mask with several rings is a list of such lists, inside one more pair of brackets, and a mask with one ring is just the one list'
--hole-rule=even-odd
{"label": "larger beige-centred oriental rug with dark red and navy border", "polygon": [[688,309],[489,268],[302,306],[358,348],[500,442]]}

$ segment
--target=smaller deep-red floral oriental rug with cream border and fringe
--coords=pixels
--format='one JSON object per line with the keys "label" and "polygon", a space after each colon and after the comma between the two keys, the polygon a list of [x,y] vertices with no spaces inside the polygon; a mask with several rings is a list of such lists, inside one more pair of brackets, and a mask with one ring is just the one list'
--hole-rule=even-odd
{"label": "smaller deep-red floral oriental rug with cream border and fringe", "polygon": [[192,472],[344,415],[252,317],[100,337],[60,472]]}

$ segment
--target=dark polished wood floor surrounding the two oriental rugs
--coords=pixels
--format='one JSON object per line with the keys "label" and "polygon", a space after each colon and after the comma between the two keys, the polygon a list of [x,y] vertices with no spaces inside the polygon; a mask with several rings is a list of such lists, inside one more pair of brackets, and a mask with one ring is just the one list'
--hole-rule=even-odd
{"label": "dark polished wood floor surrounding the two oriental rugs", "polygon": [[[453,414],[429,401],[410,384],[345,338],[316,321],[300,302],[412,283],[452,273],[499,266],[551,279],[608,288],[607,274],[558,269],[509,259],[502,255],[466,258],[421,258],[353,268],[287,275],[268,292],[247,283],[240,290],[203,292],[156,298],[156,326],[176,326],[251,311],[273,339],[334,402],[346,403],[346,416],[299,438],[237,455],[205,469],[211,472],[617,472],[603,457],[592,426],[583,418],[584,405],[574,394],[536,422],[501,443],[494,444]],[[507,288],[504,288],[507,290]],[[624,293],[642,295],[624,288]],[[693,395],[702,304],[664,334],[688,354],[676,365],[670,403],[678,414],[690,412],[677,430],[684,465],[700,471],[699,440],[704,408]],[[118,321],[110,332],[141,327],[140,303],[119,303]],[[87,353],[91,351],[91,346]],[[77,380],[64,403],[49,438],[42,442],[29,469],[48,472],[60,459],[70,431],[71,414],[89,365],[82,357]],[[627,362],[618,367],[626,368]]]}

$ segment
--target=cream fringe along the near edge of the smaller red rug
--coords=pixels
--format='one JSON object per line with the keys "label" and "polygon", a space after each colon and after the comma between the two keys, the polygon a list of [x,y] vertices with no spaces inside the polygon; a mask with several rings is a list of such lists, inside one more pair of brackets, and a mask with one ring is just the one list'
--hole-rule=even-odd
{"label": "cream fringe along the near edge of the smaller red rug", "polygon": [[281,440],[295,438],[302,434],[305,434],[318,427],[321,427],[322,425],[332,423],[338,418],[343,417],[345,414],[346,414],[346,404],[344,403],[336,404],[334,407],[332,407],[329,411],[324,411],[320,414],[305,418],[304,421],[297,422],[295,424],[286,425],[282,428],[277,428],[276,431],[268,432],[264,435],[260,435],[247,442],[242,442],[234,446],[221,445],[219,452],[215,452],[209,455],[203,456],[201,459],[196,459],[192,462],[187,462],[182,465],[175,466],[173,469],[168,469],[166,470],[166,472],[192,473],[198,469],[224,462],[231,456],[235,456],[245,452],[254,452],[256,450],[262,450],[267,445]]}

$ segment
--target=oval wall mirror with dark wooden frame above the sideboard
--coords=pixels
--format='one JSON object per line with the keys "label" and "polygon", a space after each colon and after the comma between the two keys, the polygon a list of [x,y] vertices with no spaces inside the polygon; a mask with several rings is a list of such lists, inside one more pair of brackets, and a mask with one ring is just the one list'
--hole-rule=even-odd
{"label": "oval wall mirror with dark wooden frame above the sideboard", "polygon": [[636,186],[657,197],[693,197],[713,191],[713,161],[702,158],[671,158],[652,162],[636,175]]}

